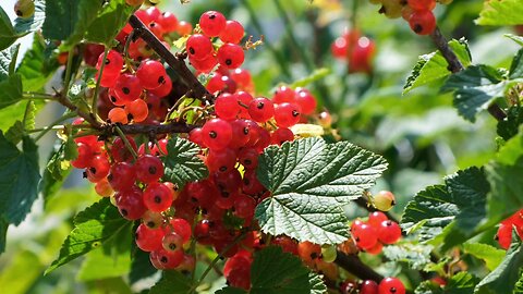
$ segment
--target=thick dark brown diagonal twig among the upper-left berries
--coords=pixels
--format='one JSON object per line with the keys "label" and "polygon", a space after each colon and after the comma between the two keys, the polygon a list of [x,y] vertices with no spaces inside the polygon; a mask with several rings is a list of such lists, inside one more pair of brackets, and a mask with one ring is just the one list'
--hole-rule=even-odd
{"label": "thick dark brown diagonal twig among the upper-left berries", "polygon": [[169,49],[153,34],[142,21],[132,15],[129,19],[129,24],[135,29],[134,35],[139,36],[147,45],[155,50],[155,52],[160,56],[169,66],[171,66],[180,76],[181,81],[192,89],[194,98],[197,98],[202,101],[212,102],[215,97],[205,88],[202,83],[194,76],[194,74],[188,70],[185,64],[184,57],[181,54],[172,54]]}

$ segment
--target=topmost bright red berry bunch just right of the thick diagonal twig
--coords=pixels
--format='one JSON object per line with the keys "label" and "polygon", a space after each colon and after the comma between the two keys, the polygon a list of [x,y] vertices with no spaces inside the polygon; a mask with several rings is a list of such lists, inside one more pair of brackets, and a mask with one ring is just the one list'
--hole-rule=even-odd
{"label": "topmost bright red berry bunch just right of the thick diagonal twig", "polygon": [[[193,34],[187,38],[185,50],[188,61],[198,72],[209,73],[219,63],[220,66],[233,70],[242,65],[245,56],[240,41],[245,34],[242,24],[227,20],[217,11],[207,11],[199,17],[202,34]],[[218,37],[219,41],[212,41]],[[219,48],[215,50],[215,45]]]}

